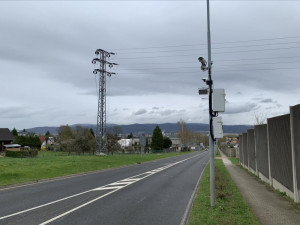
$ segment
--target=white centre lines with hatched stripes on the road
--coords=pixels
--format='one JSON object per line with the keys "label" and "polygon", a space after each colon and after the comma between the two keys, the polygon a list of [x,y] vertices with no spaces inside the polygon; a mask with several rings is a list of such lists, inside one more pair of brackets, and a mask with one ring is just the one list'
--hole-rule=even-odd
{"label": "white centre lines with hatched stripes on the road", "polygon": [[171,163],[171,164],[169,164],[167,166],[163,166],[163,167],[160,167],[160,168],[157,168],[157,169],[145,172],[145,173],[141,173],[141,174],[138,174],[138,175],[135,175],[135,176],[132,176],[132,177],[128,177],[128,178],[125,178],[123,180],[120,180],[120,181],[117,181],[117,182],[113,182],[111,184],[107,184],[107,185],[104,185],[104,186],[101,186],[101,187],[98,187],[98,188],[94,188],[94,189],[91,189],[91,190],[88,190],[88,191],[80,192],[80,193],[75,194],[75,195],[71,195],[71,196],[68,196],[68,197],[65,197],[65,198],[58,199],[58,200],[55,200],[55,201],[52,201],[52,202],[48,202],[46,204],[42,204],[42,205],[39,205],[39,206],[36,206],[36,207],[33,207],[33,208],[29,208],[29,209],[22,210],[22,211],[19,211],[19,212],[10,214],[10,215],[6,215],[6,216],[3,216],[3,217],[0,217],[0,220],[6,219],[6,218],[9,218],[9,217],[13,217],[13,216],[16,216],[16,215],[20,215],[22,213],[26,213],[26,212],[29,212],[29,211],[32,211],[32,210],[35,210],[35,209],[39,209],[39,208],[42,208],[42,207],[45,207],[45,206],[48,206],[48,205],[52,205],[52,204],[55,204],[55,203],[58,203],[58,202],[61,202],[61,201],[64,201],[64,200],[67,200],[67,199],[70,199],[70,198],[74,198],[74,197],[77,197],[77,196],[80,196],[80,195],[92,192],[92,191],[101,191],[101,190],[110,190],[110,189],[113,190],[113,191],[110,191],[110,192],[108,192],[108,193],[106,193],[104,195],[101,195],[101,196],[99,196],[99,197],[97,197],[97,198],[95,198],[95,199],[93,199],[93,200],[91,200],[91,201],[89,201],[89,202],[87,202],[85,204],[82,204],[82,205],[80,205],[80,206],[78,206],[78,207],[76,207],[76,208],[74,208],[72,210],[69,210],[69,211],[67,211],[67,212],[65,212],[65,213],[63,213],[63,214],[61,214],[59,216],[56,216],[56,217],[54,217],[54,218],[52,218],[50,220],[47,220],[47,221],[45,221],[45,222],[43,222],[43,223],[40,224],[40,225],[45,225],[45,224],[48,224],[48,223],[50,223],[50,222],[52,222],[52,221],[54,221],[54,220],[56,220],[58,218],[61,218],[61,217],[65,216],[67,214],[70,214],[71,212],[74,212],[74,211],[76,211],[76,210],[78,210],[78,209],[80,209],[80,208],[82,208],[84,206],[87,206],[87,205],[89,205],[89,204],[91,204],[91,203],[93,203],[93,202],[95,202],[95,201],[97,201],[97,200],[99,200],[101,198],[104,198],[105,196],[108,196],[108,195],[110,195],[110,194],[112,194],[112,193],[114,193],[114,192],[116,192],[116,191],[118,191],[118,190],[120,190],[120,189],[122,189],[124,187],[127,187],[128,185],[131,185],[131,184],[133,184],[135,182],[138,182],[138,181],[140,181],[142,179],[145,179],[145,178],[147,178],[147,177],[149,177],[149,176],[151,176],[153,174],[159,173],[159,172],[161,172],[161,171],[163,171],[163,170],[165,170],[167,168],[170,168],[172,166],[175,166],[175,165],[177,165],[179,163],[182,163],[182,162],[187,161],[189,159],[195,158],[197,156],[199,156],[199,155],[192,156],[192,157],[189,157],[187,159],[184,159],[184,160],[181,160],[181,161],[178,161],[178,162],[175,162],[175,163]]}

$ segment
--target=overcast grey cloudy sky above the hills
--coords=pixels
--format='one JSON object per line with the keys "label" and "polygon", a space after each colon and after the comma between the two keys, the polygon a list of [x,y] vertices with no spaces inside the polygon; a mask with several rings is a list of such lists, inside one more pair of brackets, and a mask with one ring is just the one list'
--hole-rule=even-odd
{"label": "overcast grey cloudy sky above the hills", "polygon": [[[300,103],[300,1],[211,1],[224,124]],[[0,127],[96,123],[97,48],[115,52],[107,122],[207,123],[206,1],[0,1]]]}

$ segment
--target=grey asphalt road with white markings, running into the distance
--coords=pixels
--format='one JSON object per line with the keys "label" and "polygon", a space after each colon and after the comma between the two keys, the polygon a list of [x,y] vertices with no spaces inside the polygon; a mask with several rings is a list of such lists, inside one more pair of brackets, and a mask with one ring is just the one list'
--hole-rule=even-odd
{"label": "grey asphalt road with white markings, running into the distance", "polygon": [[184,224],[208,152],[0,189],[0,224]]}

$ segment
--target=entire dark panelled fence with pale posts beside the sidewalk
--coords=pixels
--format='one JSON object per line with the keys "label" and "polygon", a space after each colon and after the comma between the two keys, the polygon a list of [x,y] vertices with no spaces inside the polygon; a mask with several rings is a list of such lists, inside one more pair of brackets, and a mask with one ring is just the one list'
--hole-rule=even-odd
{"label": "entire dark panelled fence with pale posts beside the sidewalk", "polygon": [[300,202],[300,104],[240,137],[240,164]]}

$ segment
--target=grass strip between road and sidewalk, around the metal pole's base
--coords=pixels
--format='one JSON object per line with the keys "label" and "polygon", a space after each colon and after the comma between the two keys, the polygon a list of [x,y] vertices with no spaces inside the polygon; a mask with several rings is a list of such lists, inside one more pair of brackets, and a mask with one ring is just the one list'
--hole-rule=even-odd
{"label": "grass strip between road and sidewalk, around the metal pole's base", "polygon": [[257,217],[244,201],[232,181],[222,160],[215,160],[216,207],[210,206],[209,166],[205,168],[193,208],[189,225],[258,225]]}

